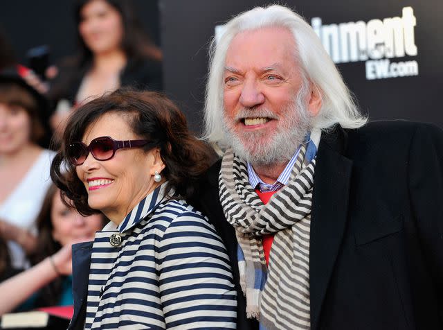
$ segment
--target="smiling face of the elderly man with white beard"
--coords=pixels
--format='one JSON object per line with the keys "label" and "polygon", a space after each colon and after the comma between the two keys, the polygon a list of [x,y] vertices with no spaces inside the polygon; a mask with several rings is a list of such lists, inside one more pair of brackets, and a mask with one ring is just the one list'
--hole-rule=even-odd
{"label": "smiling face of the elderly man with white beard", "polygon": [[234,152],[252,164],[290,159],[318,111],[295,50],[289,30],[268,27],[239,33],[226,53],[224,128]]}

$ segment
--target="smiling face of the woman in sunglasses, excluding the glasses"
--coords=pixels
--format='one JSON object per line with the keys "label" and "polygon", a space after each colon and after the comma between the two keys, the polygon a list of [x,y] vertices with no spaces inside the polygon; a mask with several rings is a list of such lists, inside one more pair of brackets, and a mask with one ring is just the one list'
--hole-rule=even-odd
{"label": "smiling face of the woman in sunglasses, excluding the glasses", "polygon": [[[82,142],[89,146],[93,139],[105,136],[120,141],[143,139],[129,127],[127,116],[118,112],[108,112],[92,123]],[[89,206],[101,210],[118,225],[158,186],[154,174],[161,173],[163,168],[158,149],[145,152],[143,148],[123,148],[105,161],[89,153],[84,163],[77,166],[77,175],[88,192]]]}

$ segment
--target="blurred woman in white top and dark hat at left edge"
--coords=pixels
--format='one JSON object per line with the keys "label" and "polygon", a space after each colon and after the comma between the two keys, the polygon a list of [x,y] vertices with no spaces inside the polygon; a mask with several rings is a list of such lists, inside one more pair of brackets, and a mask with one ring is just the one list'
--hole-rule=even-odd
{"label": "blurred woman in white top and dark hat at left edge", "polygon": [[35,218],[51,184],[55,153],[39,146],[45,137],[45,98],[21,74],[23,67],[0,72],[0,236],[8,243],[12,267],[28,267],[36,245]]}

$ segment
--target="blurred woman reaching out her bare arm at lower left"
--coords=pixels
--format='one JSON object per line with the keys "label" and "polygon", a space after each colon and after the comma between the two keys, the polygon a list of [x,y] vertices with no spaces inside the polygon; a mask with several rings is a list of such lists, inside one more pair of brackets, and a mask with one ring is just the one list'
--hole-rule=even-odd
{"label": "blurred woman reaching out her bare arm at lower left", "polygon": [[[71,245],[91,240],[104,225],[101,215],[80,216],[62,202],[60,190],[50,186],[37,218],[37,251],[33,267],[0,284],[0,315],[42,306],[72,305]],[[28,299],[28,300],[26,300]]]}

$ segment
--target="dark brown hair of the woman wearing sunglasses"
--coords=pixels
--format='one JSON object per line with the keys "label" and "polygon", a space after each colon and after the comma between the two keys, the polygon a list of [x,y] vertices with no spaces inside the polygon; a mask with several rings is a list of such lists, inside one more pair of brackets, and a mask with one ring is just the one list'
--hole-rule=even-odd
{"label": "dark brown hair of the woman wearing sunglasses", "polygon": [[[161,175],[168,180],[166,192],[174,188],[174,198],[192,196],[197,177],[215,159],[213,149],[188,130],[185,115],[165,95],[122,88],[82,105],[69,118],[62,147],[51,165],[51,178],[62,190],[64,199],[72,200],[85,216],[97,212],[88,205],[87,190],[76,175],[75,165],[69,162],[67,146],[82,141],[89,125],[109,112],[122,114],[134,134],[150,141],[143,147],[145,151],[159,148],[165,164]],[[109,132],[111,137],[112,134]]]}

